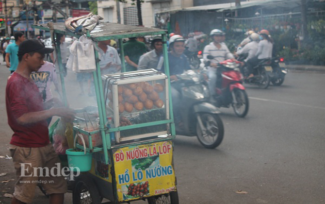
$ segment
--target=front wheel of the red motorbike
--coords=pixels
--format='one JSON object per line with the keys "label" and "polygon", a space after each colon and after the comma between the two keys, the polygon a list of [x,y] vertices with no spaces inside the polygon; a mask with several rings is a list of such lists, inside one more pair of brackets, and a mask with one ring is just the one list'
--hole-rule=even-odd
{"label": "front wheel of the red motorbike", "polygon": [[239,88],[235,88],[233,92],[234,96],[236,97],[236,103],[232,103],[234,112],[238,117],[244,118],[247,115],[249,108],[247,93],[245,90]]}

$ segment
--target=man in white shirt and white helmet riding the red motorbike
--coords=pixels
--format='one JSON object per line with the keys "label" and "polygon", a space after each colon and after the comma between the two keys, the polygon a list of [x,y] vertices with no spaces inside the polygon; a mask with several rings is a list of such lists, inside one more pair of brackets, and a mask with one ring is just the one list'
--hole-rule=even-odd
{"label": "man in white shirt and white helmet riding the red motorbike", "polygon": [[[217,68],[218,63],[225,61],[226,59],[234,59],[234,56],[229,51],[227,45],[224,43],[226,34],[221,30],[214,29],[210,32],[210,37],[213,42],[205,46],[203,51],[204,62],[210,62],[208,67],[209,75],[209,89],[211,95],[211,102],[214,103],[216,91],[215,88],[221,88],[222,85],[222,70]],[[208,59],[208,55],[213,56],[213,59]]]}

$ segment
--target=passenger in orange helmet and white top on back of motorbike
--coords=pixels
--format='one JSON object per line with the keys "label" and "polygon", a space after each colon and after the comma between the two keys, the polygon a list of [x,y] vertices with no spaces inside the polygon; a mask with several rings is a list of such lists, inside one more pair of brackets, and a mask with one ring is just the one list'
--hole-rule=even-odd
{"label": "passenger in orange helmet and white top on back of motorbike", "polygon": [[248,78],[254,76],[253,68],[256,64],[258,64],[263,59],[272,58],[273,40],[269,37],[269,35],[270,33],[267,30],[260,31],[260,43],[256,52],[256,56],[247,61],[247,68],[249,71]]}

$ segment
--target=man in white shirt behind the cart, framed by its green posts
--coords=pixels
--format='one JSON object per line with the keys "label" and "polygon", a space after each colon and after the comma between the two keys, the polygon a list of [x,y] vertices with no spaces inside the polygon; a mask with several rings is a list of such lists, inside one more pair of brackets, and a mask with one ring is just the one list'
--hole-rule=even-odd
{"label": "man in white shirt behind the cart, framed by its green posts", "polygon": [[116,49],[109,46],[110,44],[111,40],[98,41],[101,74],[114,74],[121,71],[121,59]]}

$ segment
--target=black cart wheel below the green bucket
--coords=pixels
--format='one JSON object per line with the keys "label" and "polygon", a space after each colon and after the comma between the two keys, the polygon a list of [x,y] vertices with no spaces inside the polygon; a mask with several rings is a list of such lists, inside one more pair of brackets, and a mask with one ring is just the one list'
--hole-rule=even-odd
{"label": "black cart wheel below the green bucket", "polygon": [[100,204],[101,199],[94,181],[87,175],[76,179],[72,193],[73,204]]}

